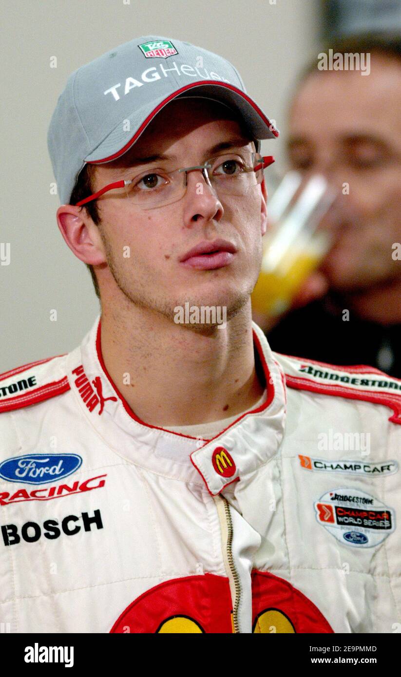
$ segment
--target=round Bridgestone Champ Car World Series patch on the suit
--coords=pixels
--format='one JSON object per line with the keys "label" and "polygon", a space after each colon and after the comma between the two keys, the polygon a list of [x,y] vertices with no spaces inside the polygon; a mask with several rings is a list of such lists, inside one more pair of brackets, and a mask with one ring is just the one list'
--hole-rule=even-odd
{"label": "round Bridgestone Champ Car World Series patch on the suit", "polygon": [[333,489],[314,506],[318,523],[349,546],[372,548],[396,528],[395,510],[359,489]]}

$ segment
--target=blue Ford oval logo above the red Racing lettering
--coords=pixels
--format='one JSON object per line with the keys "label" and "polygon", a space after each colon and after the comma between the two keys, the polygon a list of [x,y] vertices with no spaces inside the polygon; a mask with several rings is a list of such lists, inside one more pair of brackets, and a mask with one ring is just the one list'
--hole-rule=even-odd
{"label": "blue Ford oval logo above the red Racing lettering", "polygon": [[82,463],[78,454],[26,454],[0,463],[0,477],[9,482],[45,484],[75,473]]}

